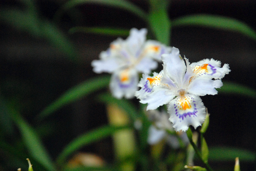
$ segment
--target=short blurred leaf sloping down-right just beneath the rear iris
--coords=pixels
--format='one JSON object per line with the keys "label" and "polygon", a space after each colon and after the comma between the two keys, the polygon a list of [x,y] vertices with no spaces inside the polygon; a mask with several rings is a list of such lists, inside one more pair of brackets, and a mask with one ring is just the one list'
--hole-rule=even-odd
{"label": "short blurred leaf sloping down-right just beneath the rear iris", "polygon": [[139,118],[139,112],[136,110],[135,106],[131,104],[131,102],[129,102],[127,99],[117,99],[109,93],[101,94],[98,99],[104,103],[117,104],[120,108],[127,112],[133,121]]}

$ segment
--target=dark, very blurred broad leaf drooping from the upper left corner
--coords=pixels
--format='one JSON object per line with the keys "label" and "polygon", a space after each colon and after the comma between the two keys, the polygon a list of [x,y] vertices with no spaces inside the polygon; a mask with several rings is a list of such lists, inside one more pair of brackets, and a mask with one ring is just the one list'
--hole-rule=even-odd
{"label": "dark, very blurred broad leaf drooping from the upper left corner", "polygon": [[61,52],[76,61],[75,47],[56,26],[47,20],[39,19],[34,13],[21,10],[0,10],[0,20],[17,30],[30,33],[36,38],[46,39]]}

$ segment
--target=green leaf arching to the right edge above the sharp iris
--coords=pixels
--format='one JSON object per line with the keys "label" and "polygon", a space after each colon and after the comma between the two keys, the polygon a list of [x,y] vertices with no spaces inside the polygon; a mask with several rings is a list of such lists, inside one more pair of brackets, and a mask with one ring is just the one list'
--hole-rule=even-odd
{"label": "green leaf arching to the right edge above the sharp iris", "polygon": [[242,33],[254,40],[256,40],[256,32],[247,24],[240,22],[234,18],[214,15],[191,15],[180,17],[172,21],[172,27],[181,26],[205,26],[215,29],[224,29],[229,31],[236,31]]}

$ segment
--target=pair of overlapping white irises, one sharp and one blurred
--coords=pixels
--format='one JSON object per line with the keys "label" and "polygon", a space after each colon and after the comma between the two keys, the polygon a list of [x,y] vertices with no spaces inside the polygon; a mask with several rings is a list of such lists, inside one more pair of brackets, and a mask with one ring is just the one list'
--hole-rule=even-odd
{"label": "pair of overlapping white irises, one sharp and one blurred", "polygon": [[[169,120],[176,131],[201,126],[206,108],[199,96],[218,93],[215,88],[222,86],[221,79],[230,72],[228,64],[221,67],[214,59],[190,64],[179,49],[146,41],[146,34],[147,29],[133,28],[126,40],[113,41],[101,52],[100,60],[92,62],[93,71],[112,73],[110,90],[116,98],[133,98],[135,94],[141,103],[147,103],[147,110],[168,104]],[[163,61],[163,70],[150,77],[157,61]],[[138,73],[144,73],[140,82]]]}

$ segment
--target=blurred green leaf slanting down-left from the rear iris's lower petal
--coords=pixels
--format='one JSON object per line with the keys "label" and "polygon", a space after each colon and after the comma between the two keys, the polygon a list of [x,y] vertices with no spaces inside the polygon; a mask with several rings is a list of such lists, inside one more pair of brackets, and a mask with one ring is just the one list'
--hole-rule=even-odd
{"label": "blurred green leaf slanting down-left from the rear iris's lower petal", "polygon": [[69,89],[67,92],[65,92],[60,98],[52,102],[49,106],[47,106],[40,114],[39,119],[43,119],[46,116],[49,116],[51,113],[55,112],[59,108],[65,106],[66,104],[69,104],[71,102],[74,102],[75,100],[78,100],[79,98],[82,98],[83,96],[88,95],[89,93],[92,93],[96,90],[99,90],[101,88],[105,88],[109,85],[110,77],[101,76],[96,77],[93,79],[89,79],[80,85],[77,85],[71,89]]}

